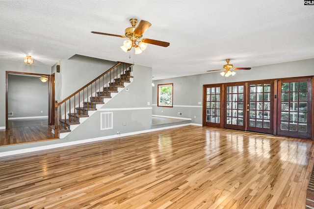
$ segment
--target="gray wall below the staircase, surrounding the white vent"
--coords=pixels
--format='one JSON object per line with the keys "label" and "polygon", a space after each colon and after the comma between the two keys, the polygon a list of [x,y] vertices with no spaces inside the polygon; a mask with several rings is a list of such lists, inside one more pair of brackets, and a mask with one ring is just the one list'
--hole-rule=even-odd
{"label": "gray wall below the staircase, surrounding the white vent", "polygon": [[[77,141],[142,131],[152,124],[152,68],[133,66],[133,81],[62,140]],[[126,90],[128,89],[128,90]],[[112,112],[113,128],[100,129],[101,113]]]}

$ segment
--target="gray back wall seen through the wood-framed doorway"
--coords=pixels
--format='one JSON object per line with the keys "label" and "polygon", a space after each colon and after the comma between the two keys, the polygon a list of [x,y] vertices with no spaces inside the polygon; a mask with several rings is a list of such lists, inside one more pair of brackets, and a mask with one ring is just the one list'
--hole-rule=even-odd
{"label": "gray back wall seen through the wood-framed doorway", "polygon": [[8,76],[8,112],[13,112],[8,118],[48,117],[48,104],[48,82],[18,74]]}

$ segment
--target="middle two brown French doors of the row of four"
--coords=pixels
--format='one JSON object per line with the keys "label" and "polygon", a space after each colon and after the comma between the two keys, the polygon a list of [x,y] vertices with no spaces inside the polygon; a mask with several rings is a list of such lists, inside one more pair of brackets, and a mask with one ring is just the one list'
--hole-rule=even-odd
{"label": "middle two brown French doors of the row of four", "polygon": [[272,81],[226,85],[225,128],[273,133]]}

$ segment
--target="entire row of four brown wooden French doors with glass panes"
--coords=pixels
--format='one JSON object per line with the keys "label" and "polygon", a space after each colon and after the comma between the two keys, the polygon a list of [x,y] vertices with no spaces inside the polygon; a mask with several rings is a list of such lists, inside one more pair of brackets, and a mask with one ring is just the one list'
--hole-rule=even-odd
{"label": "entire row of four brown wooden French doors with glass panes", "polygon": [[312,79],[204,85],[203,124],[313,139]]}

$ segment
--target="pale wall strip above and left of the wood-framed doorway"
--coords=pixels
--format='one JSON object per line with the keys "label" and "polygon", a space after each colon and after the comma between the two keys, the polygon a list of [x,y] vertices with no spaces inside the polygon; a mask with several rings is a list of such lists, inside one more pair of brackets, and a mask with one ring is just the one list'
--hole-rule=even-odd
{"label": "pale wall strip above and left of the wood-framed doorway", "polygon": [[23,60],[21,63],[17,62],[0,62],[0,129],[5,128],[5,72],[27,72],[27,73],[38,73],[38,74],[51,74],[50,66],[41,66],[35,64],[24,64]]}

